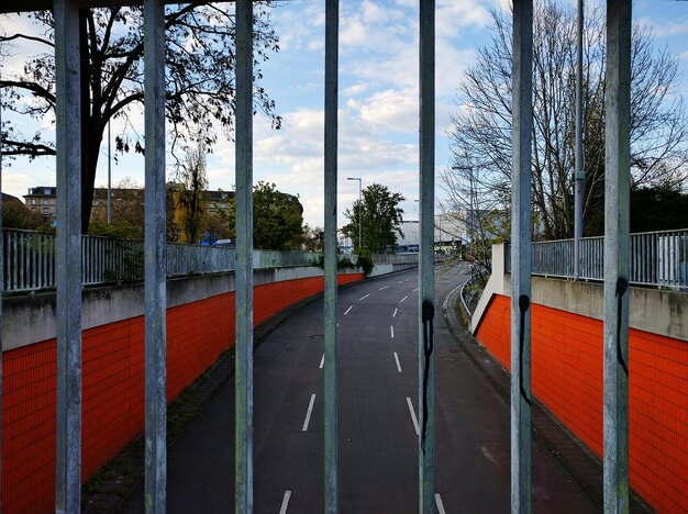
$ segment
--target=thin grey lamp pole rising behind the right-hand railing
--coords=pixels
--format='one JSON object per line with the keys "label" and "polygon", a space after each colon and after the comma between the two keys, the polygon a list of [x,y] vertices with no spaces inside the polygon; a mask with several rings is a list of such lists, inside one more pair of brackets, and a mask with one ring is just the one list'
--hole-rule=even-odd
{"label": "thin grey lamp pole rising behind the right-hand railing", "polygon": [[586,174],[582,160],[582,0],[578,0],[578,33],[576,49],[576,191],[574,206],[574,279],[580,278],[580,239],[582,237],[582,205]]}

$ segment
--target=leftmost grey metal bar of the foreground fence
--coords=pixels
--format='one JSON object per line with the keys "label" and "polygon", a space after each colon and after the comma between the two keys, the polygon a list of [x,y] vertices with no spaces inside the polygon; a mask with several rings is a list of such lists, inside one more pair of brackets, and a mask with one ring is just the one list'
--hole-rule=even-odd
{"label": "leftmost grey metal bar of the foreground fence", "polygon": [[77,2],[55,0],[53,12],[57,94],[55,511],[63,513],[81,507],[81,69]]}

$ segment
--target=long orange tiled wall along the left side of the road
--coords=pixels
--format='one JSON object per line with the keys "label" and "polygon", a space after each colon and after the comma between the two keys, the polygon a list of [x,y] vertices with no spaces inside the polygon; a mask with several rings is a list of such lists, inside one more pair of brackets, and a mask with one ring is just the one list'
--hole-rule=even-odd
{"label": "long orange tiled wall along the left side of the road", "polygon": [[[340,283],[363,279],[340,276]],[[322,277],[257,286],[254,325],[321,292]],[[174,400],[234,345],[234,293],[167,310],[167,398]],[[144,319],[82,333],[81,476],[93,474],[144,426]],[[3,353],[2,507],[53,512],[56,342]]]}

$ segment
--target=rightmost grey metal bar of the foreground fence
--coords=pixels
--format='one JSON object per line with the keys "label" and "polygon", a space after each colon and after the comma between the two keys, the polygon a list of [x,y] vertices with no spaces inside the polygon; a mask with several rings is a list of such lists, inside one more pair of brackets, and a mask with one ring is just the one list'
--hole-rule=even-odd
{"label": "rightmost grey metal bar of the foreground fence", "polygon": [[607,2],[604,512],[629,512],[631,2]]}

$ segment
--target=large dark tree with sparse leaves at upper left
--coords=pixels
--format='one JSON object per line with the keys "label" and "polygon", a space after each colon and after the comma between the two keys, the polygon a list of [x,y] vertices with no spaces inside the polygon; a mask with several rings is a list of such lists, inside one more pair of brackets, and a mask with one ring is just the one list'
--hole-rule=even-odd
{"label": "large dark tree with sparse leaves at upper left", "polygon": [[[278,37],[270,25],[268,3],[254,8],[254,103],[274,115],[275,103],[260,87],[258,63],[277,52]],[[27,56],[21,71],[3,72],[0,89],[3,110],[16,114],[3,120],[2,155],[35,158],[55,155],[55,144],[37,131],[22,134],[19,128],[30,116],[45,124],[55,112],[54,19],[51,11],[25,15],[33,25],[30,33],[0,35],[0,60],[11,55],[14,42],[30,41],[45,47],[44,53]],[[16,26],[24,23],[16,23]],[[11,25],[7,24],[8,31]],[[82,121],[84,166],[81,169],[81,222],[88,228],[96,169],[103,131],[111,119],[129,120],[143,104],[143,8],[115,7],[84,10],[81,26],[87,47],[85,56],[88,113]],[[209,147],[215,141],[212,126],[231,132],[234,125],[234,48],[235,16],[232,3],[168,4],[165,8],[165,75],[167,128],[171,132],[173,152],[193,144]],[[124,124],[127,127],[132,123]],[[78,135],[73,135],[77,137]],[[115,138],[120,153],[143,153],[143,133],[126,131]]]}

